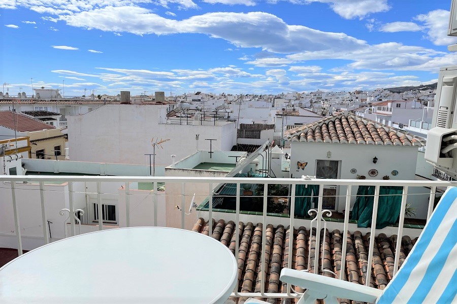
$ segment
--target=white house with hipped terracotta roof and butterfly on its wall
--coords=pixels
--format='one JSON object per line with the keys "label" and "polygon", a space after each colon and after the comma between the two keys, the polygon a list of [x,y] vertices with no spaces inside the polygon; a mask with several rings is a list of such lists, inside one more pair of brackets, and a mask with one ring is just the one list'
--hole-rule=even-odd
{"label": "white house with hipped terracotta roof and butterfly on its wall", "polygon": [[[314,124],[288,130],[290,177],[302,175],[336,179],[414,180],[420,137],[399,131],[349,113],[339,113]],[[342,211],[338,197],[346,189],[324,188],[330,209]],[[420,192],[429,193],[429,190]],[[429,196],[418,195],[408,203],[418,208],[416,216],[425,218]]]}

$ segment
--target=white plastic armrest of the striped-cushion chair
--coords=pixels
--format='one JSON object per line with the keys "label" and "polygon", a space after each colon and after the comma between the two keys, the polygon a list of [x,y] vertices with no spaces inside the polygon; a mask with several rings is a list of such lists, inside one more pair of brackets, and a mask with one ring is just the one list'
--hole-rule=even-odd
{"label": "white plastic armrest of the striped-cushion chair", "polygon": [[373,287],[288,268],[282,269],[280,280],[315,292],[362,302],[372,303],[382,294],[382,290]]}

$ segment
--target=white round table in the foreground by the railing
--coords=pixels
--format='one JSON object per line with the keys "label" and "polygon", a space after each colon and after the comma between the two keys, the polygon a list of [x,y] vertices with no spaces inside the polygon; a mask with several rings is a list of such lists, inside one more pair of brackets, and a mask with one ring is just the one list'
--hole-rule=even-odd
{"label": "white round table in the foreground by the railing", "polygon": [[0,269],[0,303],[223,303],[237,262],[208,236],[174,228],[88,233]]}

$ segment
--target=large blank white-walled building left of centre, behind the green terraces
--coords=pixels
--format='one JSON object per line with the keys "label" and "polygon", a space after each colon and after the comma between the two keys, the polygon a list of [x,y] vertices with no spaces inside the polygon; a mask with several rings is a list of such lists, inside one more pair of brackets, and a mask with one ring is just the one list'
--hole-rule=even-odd
{"label": "large blank white-walled building left of centre, behind the green terraces", "polygon": [[71,160],[146,164],[149,156],[145,154],[154,153],[151,143],[170,139],[155,149],[155,164],[168,166],[171,155],[182,159],[197,150],[228,151],[236,143],[234,122],[167,124],[167,110],[168,105],[110,104],[84,115],[68,116]]}

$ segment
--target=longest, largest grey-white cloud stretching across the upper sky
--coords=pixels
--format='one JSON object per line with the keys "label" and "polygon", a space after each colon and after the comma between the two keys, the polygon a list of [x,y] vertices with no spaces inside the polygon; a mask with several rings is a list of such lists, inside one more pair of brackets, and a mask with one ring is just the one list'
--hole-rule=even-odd
{"label": "longest, largest grey-white cloud stretching across the upper sky", "polygon": [[224,39],[237,47],[262,48],[275,53],[342,48],[353,50],[365,45],[365,41],[345,33],[288,25],[282,19],[263,12],[207,13],[177,21],[139,7],[106,7],[59,18],[72,26],[103,31],[157,35],[203,33]]}

